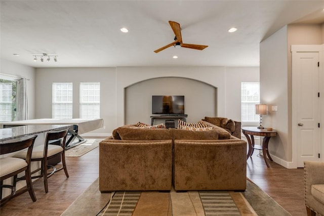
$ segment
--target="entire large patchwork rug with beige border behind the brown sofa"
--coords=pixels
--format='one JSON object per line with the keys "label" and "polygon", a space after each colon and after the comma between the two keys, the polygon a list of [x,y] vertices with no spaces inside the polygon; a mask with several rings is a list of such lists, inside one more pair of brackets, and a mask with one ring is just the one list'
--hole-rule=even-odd
{"label": "entire large patchwork rug with beige border behind the brown sofa", "polygon": [[99,191],[97,179],[62,215],[291,215],[257,185],[233,191]]}

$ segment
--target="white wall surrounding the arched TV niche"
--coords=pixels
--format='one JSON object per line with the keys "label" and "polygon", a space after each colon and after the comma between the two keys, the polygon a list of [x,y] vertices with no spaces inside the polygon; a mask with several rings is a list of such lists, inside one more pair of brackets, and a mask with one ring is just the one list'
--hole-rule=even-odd
{"label": "white wall surrounding the arched TV niche", "polygon": [[[238,75],[241,72],[244,75]],[[259,67],[117,67],[116,126],[125,123],[125,88],[158,77],[185,77],[212,85],[217,88],[217,115],[230,115],[229,118],[240,121],[240,82],[247,78],[258,81],[258,73]]]}

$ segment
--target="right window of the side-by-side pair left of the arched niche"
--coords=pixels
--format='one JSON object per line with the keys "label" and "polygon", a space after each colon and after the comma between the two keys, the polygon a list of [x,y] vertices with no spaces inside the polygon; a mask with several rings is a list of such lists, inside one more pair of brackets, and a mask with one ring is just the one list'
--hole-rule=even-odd
{"label": "right window of the side-by-side pair left of the arched niche", "polygon": [[100,118],[100,82],[80,83],[80,118]]}

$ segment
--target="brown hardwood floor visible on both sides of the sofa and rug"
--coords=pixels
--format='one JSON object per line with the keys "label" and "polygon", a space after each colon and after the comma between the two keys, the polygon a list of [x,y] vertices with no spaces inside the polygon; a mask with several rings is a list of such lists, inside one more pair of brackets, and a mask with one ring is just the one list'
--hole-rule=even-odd
{"label": "brown hardwood floor visible on both sides of the sofa and rug", "polygon": [[[33,183],[36,202],[24,193],[1,207],[0,215],[60,215],[99,176],[99,148],[81,157],[67,157],[70,177],[57,172],[49,180],[49,192],[42,180]],[[247,177],[292,215],[307,215],[304,204],[303,169],[287,169],[274,162],[268,168],[254,153],[248,159]],[[89,200],[91,202],[91,200]],[[78,215],[81,216],[81,215]]]}

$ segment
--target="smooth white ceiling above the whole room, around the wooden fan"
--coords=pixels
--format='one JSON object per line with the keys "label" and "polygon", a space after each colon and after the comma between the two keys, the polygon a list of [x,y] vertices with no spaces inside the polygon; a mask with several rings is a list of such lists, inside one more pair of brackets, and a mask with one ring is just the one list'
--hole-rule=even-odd
{"label": "smooth white ceiling above the whole room, around the wooden fan", "polygon": [[[290,23],[324,23],[323,8],[324,1],[1,0],[1,58],[32,67],[259,66],[264,38]],[[180,23],[184,43],[209,47],[154,53],[173,41],[169,20]],[[41,53],[58,62],[34,62]]]}

